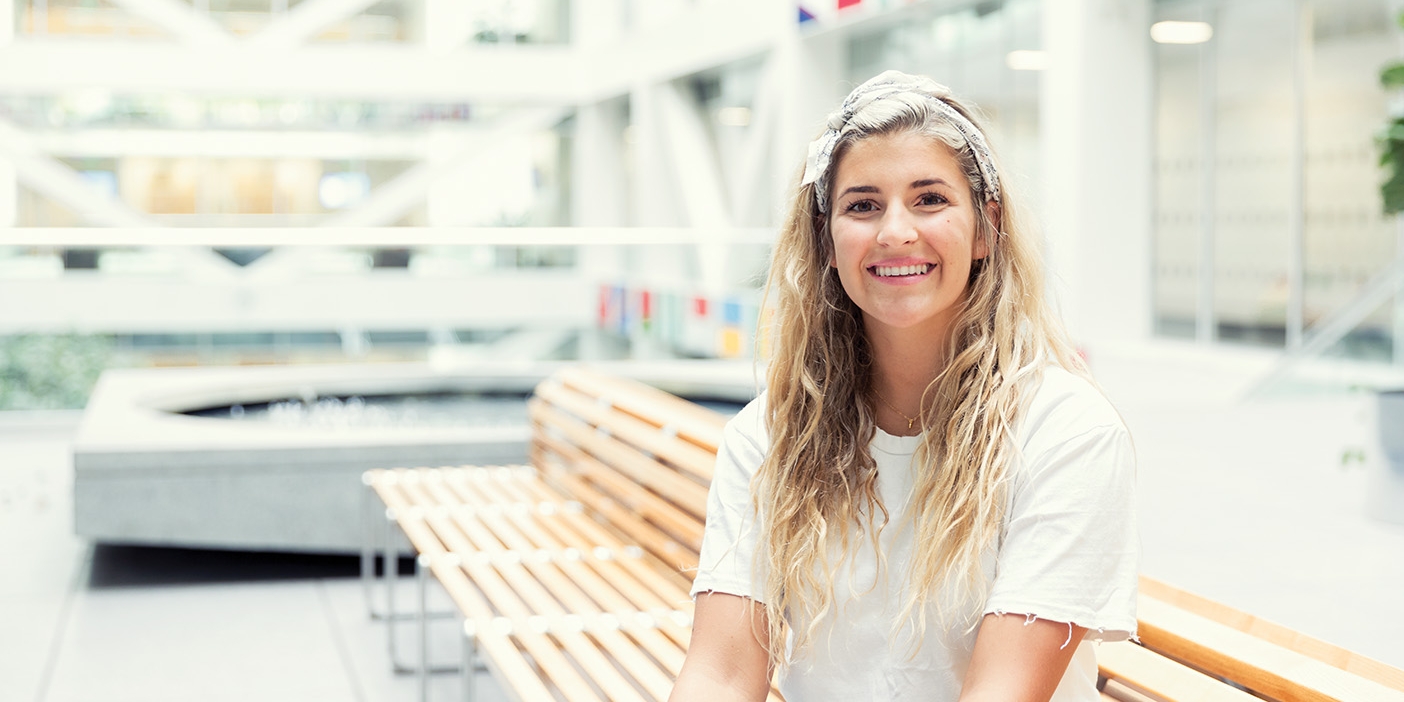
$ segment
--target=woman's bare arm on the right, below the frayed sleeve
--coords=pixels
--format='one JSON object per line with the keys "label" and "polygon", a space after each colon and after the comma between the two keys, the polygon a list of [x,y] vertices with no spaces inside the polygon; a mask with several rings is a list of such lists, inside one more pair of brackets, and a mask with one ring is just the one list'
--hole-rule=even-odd
{"label": "woman's bare arm on the right, below the frayed sleeve", "polygon": [[1018,614],[987,614],[960,702],[1047,702],[1087,629]]}

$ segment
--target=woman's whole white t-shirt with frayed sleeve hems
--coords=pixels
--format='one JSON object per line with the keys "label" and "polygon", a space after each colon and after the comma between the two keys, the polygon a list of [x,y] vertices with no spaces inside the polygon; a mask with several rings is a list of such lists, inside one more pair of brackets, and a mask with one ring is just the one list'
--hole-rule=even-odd
{"label": "woman's whole white t-shirt with frayed sleeve hems", "polygon": [[[751,476],[769,446],[765,396],[726,427],[708,496],[706,534],[692,595],[713,591],[760,600],[764,573],[753,573],[757,548]],[[1056,702],[1098,699],[1097,640],[1136,632],[1139,536],[1133,505],[1136,458],[1120,417],[1087,380],[1056,366],[1018,418],[1021,448],[1009,466],[1009,507],[1000,546],[986,557],[991,578],[983,612],[1071,622],[1088,629],[1053,695]],[[913,453],[921,437],[878,430],[869,446],[878,490],[893,515],[883,529],[887,577],[876,583],[876,553],[866,538],[834,574],[834,616],[813,649],[789,667],[781,692],[790,702],[816,699],[955,701],[977,630],[942,630],[928,618],[915,658],[910,636],[893,636],[913,549],[900,515],[913,491]],[[760,563],[760,567],[765,567]],[[906,639],[906,640],[894,640]]]}

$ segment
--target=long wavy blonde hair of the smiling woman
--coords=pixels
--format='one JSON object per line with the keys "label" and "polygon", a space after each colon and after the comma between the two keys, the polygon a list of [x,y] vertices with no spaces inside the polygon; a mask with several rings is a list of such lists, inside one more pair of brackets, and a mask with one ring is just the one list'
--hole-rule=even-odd
{"label": "long wavy blonde hair of the smiling woman", "polygon": [[[980,128],[976,114],[949,95],[883,97],[840,129],[830,177],[820,183],[833,184],[831,174],[855,142],[915,132],[955,153],[972,202],[984,204],[986,185],[972,147],[932,98],[945,100]],[[995,173],[1004,173],[998,161]],[[984,239],[988,256],[973,264],[951,340],[942,344],[945,368],[922,395],[924,430],[915,456],[922,468],[903,522],[913,529],[917,548],[903,574],[906,601],[893,622],[894,633],[913,626],[913,654],[932,611],[946,628],[979,623],[988,594],[981,557],[1000,536],[1026,382],[1050,362],[1087,375],[1045,299],[1040,241],[1009,194],[1011,178],[1001,180],[1000,222],[991,220],[986,206],[976,208],[976,236]],[[767,573],[760,600],[769,622],[771,661],[781,667],[788,664],[783,651],[790,635],[799,653],[833,616],[834,573],[849,546],[870,541],[882,573],[879,536],[886,524],[897,524],[878,494],[878,466],[868,452],[876,427],[872,351],[862,312],[830,265],[833,251],[828,216],[819,212],[814,185],[800,185],[767,282],[775,309],[767,371],[771,445],[753,480],[761,528],[757,557],[764,559]]]}

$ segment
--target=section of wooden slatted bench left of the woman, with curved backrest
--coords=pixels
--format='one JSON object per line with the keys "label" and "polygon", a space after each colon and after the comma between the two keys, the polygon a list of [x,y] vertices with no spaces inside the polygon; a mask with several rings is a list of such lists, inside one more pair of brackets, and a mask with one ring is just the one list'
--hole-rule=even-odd
{"label": "section of wooden slatted bench left of the woman, with curved backrest", "polygon": [[466,658],[480,653],[514,698],[667,699],[724,418],[578,368],[541,383],[529,416],[532,466],[365,476],[418,553],[417,668],[431,573],[465,616]]}

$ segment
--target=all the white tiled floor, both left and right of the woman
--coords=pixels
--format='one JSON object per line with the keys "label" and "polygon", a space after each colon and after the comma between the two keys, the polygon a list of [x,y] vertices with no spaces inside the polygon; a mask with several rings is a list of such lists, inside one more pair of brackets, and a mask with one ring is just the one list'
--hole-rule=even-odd
{"label": "all the white tiled floor, both left and right of the woman", "polygon": [[[1365,517],[1365,469],[1342,463],[1370,448],[1369,396],[1237,402],[1241,369],[1160,354],[1094,357],[1137,441],[1143,571],[1404,667],[1404,526]],[[351,560],[94,557],[70,535],[73,421],[0,423],[0,701],[418,698],[390,671]],[[432,649],[455,660],[448,621]],[[483,702],[504,699],[477,680]],[[431,694],[456,699],[458,681]]]}

